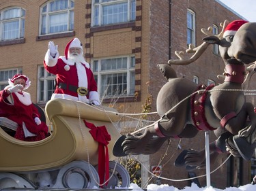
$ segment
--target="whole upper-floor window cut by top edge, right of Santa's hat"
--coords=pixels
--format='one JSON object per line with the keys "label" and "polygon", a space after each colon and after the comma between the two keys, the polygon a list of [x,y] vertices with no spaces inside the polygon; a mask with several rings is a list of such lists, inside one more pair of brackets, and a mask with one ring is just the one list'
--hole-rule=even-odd
{"label": "whole upper-floor window cut by top edge, right of Santa's hat", "polygon": [[94,27],[135,20],[136,0],[94,0],[92,15]]}

